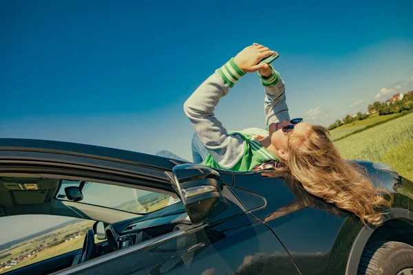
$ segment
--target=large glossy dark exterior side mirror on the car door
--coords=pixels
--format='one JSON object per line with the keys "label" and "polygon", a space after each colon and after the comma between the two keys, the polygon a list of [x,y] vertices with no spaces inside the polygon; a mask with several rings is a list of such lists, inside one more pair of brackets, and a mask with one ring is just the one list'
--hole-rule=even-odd
{"label": "large glossy dark exterior side mirror on the car door", "polygon": [[172,169],[176,189],[193,224],[212,219],[228,208],[222,195],[220,174],[199,164],[181,164]]}

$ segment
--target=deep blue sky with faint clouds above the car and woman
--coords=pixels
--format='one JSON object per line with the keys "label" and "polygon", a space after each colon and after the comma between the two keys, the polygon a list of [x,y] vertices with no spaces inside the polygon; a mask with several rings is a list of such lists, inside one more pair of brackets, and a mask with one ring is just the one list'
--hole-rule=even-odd
{"label": "deep blue sky with faint clouds above the car and woman", "polygon": [[[280,54],[291,117],[328,126],[378,94],[413,89],[412,10],[412,1],[0,1],[0,137],[190,159],[182,104],[254,42]],[[262,101],[248,74],[215,115],[231,130],[264,127]]]}

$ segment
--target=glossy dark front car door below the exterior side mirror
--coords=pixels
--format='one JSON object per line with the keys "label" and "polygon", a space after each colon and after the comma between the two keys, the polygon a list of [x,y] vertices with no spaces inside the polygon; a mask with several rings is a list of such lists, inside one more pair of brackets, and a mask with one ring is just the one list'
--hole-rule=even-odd
{"label": "glossy dark front car door below the exterior side mirror", "polygon": [[[189,181],[209,177],[205,170],[184,167]],[[206,223],[187,225],[59,274],[299,274],[273,232],[229,190],[232,177],[225,179],[229,182],[222,195],[228,207]]]}

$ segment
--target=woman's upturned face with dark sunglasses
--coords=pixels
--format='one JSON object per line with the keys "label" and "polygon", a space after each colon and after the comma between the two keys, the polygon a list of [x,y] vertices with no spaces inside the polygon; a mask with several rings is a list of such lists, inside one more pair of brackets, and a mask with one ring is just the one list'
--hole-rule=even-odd
{"label": "woman's upturned face with dark sunglasses", "polygon": [[299,122],[295,124],[294,129],[288,133],[282,131],[282,127],[291,124],[289,120],[284,120],[282,123],[273,123],[268,127],[268,134],[271,136],[271,144],[278,152],[279,157],[286,159],[288,157],[288,135],[293,137],[295,135],[304,135],[311,129],[311,124],[306,122]]}

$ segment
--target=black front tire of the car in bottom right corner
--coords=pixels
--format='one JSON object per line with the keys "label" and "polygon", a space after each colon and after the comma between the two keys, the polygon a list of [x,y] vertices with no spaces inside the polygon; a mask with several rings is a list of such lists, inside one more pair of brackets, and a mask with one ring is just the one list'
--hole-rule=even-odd
{"label": "black front tire of the car in bottom right corner", "polygon": [[[358,275],[410,275],[413,270],[413,246],[399,241],[373,241],[361,255]],[[400,273],[399,275],[402,275]]]}

